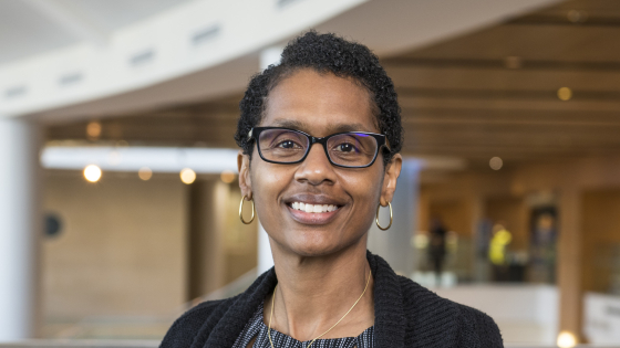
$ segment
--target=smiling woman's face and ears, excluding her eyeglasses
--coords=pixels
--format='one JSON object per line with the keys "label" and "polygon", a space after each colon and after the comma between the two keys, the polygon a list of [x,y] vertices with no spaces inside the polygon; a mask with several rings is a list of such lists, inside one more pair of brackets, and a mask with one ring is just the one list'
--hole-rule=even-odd
{"label": "smiling woman's face and ears, excluding her eyeglasses", "polygon": [[[380,133],[366,89],[312,70],[296,72],[269,93],[260,126],[293,128],[314,137],[349,130]],[[293,165],[264,161],[256,144],[251,166],[249,156],[239,154],[241,191],[254,198],[272,247],[302,256],[365,245],[376,207],[392,200],[401,169],[400,155],[386,168],[381,155],[368,168],[334,167],[320,144]],[[337,209],[306,212],[298,203]]]}

